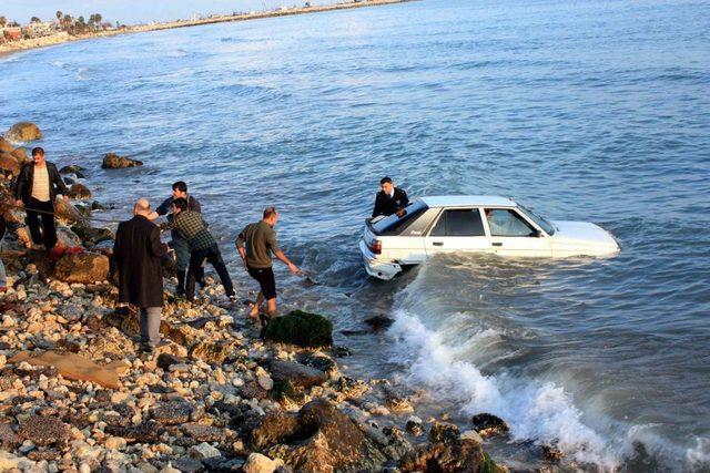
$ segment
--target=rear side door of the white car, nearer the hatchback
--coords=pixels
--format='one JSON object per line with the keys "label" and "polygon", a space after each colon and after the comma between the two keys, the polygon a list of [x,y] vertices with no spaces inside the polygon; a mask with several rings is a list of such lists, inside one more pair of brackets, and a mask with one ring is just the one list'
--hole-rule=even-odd
{"label": "rear side door of the white car, nearer the hatchback", "polygon": [[427,256],[442,253],[490,253],[479,208],[447,208],[425,238]]}

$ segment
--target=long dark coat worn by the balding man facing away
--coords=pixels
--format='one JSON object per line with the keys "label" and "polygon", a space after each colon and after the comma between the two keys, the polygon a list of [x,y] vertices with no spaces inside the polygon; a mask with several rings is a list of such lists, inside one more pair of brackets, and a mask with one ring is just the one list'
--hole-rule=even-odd
{"label": "long dark coat worn by the balding man facing away", "polygon": [[160,241],[160,229],[136,215],[121,222],[115,232],[113,257],[119,268],[119,301],[138,307],[163,306],[161,257],[168,246]]}

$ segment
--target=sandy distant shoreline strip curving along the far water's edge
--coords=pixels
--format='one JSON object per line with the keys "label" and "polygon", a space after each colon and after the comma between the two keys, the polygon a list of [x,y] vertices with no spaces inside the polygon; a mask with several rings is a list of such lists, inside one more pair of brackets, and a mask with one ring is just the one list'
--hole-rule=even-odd
{"label": "sandy distant shoreline strip curving along the far water's edge", "polygon": [[12,42],[0,44],[0,56],[7,55],[13,52],[19,52],[19,51],[28,51],[28,50],[38,49],[38,48],[63,44],[71,41],[82,41],[82,40],[90,40],[94,38],[108,38],[108,37],[115,37],[119,34],[170,30],[174,28],[199,27],[202,24],[226,23],[230,21],[247,21],[247,20],[258,20],[262,18],[290,17],[294,14],[305,14],[305,13],[321,13],[325,11],[348,10],[353,8],[364,8],[364,7],[378,7],[384,4],[405,3],[409,1],[415,1],[415,0],[368,0],[368,1],[357,2],[357,3],[353,2],[353,3],[335,3],[335,4],[328,4],[328,6],[298,7],[298,8],[278,10],[278,11],[216,16],[216,17],[210,17],[210,18],[204,18],[200,20],[182,20],[182,21],[171,21],[166,23],[141,24],[135,27],[128,27],[121,30],[100,31],[95,33],[81,34],[75,37],[68,35],[68,34],[54,34],[51,37],[33,38],[33,39],[12,41]]}

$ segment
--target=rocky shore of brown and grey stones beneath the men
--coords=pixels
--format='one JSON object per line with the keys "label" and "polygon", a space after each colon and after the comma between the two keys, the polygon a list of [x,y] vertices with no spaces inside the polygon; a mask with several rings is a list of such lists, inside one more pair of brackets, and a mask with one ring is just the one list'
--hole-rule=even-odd
{"label": "rocky shore of brown and grey stones beneath the men", "polygon": [[[104,164],[131,165],[119,157]],[[10,224],[0,471],[507,471],[484,450],[485,438],[505,435],[501,420],[481,413],[469,430],[422,420],[416,391],[341,372],[349,351],[333,345],[327,316],[294,311],[257,327],[211,278],[195,305],[168,279],[161,332],[172,343],[141,353],[136,313],[116,305],[112,233],[91,225],[101,206],[74,182],[81,167],[62,168],[78,191],[58,206],[62,248],[27,248],[10,193],[27,160],[0,138]]]}

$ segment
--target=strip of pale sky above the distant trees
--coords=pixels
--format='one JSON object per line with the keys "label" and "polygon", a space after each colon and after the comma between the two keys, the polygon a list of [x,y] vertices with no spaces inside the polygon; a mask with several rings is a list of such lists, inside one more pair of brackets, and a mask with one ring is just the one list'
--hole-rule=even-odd
{"label": "strip of pale sky above the distant trees", "polygon": [[[301,6],[305,0],[0,0],[0,16],[11,21],[28,23],[30,18],[55,18],[57,10],[72,17],[89,18],[101,13],[104,21],[124,24],[149,23],[187,19],[193,14],[232,13]],[[313,4],[333,3],[333,0],[312,1]]]}

